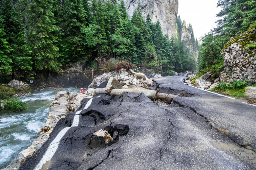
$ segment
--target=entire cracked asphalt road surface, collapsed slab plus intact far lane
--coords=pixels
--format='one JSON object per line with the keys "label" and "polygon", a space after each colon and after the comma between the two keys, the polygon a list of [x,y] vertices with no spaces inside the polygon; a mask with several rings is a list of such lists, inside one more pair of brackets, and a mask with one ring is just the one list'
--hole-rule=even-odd
{"label": "entire cracked asphalt road surface, collapsed slab plus intact far lane", "polygon": [[[187,96],[170,105],[157,106],[131,92],[84,99],[20,170],[255,169],[256,107],[186,86],[179,78],[156,80],[160,92]],[[105,144],[93,135],[100,129],[114,140]]]}

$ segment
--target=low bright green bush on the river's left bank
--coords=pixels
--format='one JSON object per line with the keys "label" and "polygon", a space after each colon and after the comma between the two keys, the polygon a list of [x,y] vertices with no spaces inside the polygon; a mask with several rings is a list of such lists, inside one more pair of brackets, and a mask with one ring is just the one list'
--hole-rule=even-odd
{"label": "low bright green bush on the river's left bank", "polygon": [[[2,106],[3,105],[3,106]],[[0,110],[22,111],[27,109],[27,102],[22,102],[18,98],[0,100]]]}

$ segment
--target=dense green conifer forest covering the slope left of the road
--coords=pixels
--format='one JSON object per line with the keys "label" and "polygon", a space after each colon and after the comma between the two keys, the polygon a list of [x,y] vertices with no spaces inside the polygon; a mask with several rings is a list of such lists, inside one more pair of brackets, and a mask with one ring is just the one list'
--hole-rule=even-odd
{"label": "dense green conifer forest covering the slope left of the road", "polygon": [[[123,0],[0,0],[0,73],[29,80],[68,62],[117,57],[168,69],[166,75],[193,70],[196,63],[180,42],[180,17],[170,38],[150,14],[142,17],[141,8],[129,18]],[[189,30],[194,41],[191,24]]]}

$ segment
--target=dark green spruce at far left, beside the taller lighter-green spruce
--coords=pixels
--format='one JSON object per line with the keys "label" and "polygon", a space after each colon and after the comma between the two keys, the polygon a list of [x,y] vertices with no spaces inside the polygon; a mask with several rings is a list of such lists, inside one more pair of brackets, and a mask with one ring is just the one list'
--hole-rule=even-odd
{"label": "dark green spruce at far left, beside the taller lighter-green spruce", "polygon": [[16,76],[23,76],[24,72],[32,70],[30,50],[24,38],[22,19],[19,18],[17,8],[11,0],[0,1],[0,15],[5,23],[5,38],[10,48],[8,57],[12,60],[10,66],[14,79],[14,73]]}

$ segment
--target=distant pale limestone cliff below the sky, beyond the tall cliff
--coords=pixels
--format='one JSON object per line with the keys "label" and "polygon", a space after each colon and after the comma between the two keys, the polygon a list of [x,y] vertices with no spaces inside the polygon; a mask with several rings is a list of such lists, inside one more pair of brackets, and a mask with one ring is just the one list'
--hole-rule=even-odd
{"label": "distant pale limestone cliff below the sky, beyond the tall cliff", "polygon": [[191,33],[187,28],[182,28],[181,31],[181,42],[184,42],[185,46],[190,50],[189,56],[197,61],[198,49],[195,44],[191,41]]}

